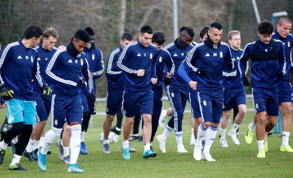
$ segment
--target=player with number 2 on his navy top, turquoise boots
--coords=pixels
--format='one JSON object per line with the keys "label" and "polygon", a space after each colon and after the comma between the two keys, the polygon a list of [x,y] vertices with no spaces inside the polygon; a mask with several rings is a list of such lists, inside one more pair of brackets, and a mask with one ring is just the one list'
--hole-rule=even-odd
{"label": "player with number 2 on his navy top, turquoise boots", "polygon": [[130,159],[129,136],[132,130],[136,106],[139,104],[140,113],[144,120],[142,135],[144,137],[144,158],[155,157],[150,150],[151,115],[154,105],[154,92],[151,84],[156,84],[156,55],[158,48],[151,44],[153,29],[146,25],[140,28],[139,40],[128,44],[122,51],[117,67],[126,73],[122,110],[126,116],[123,126],[122,157]]}

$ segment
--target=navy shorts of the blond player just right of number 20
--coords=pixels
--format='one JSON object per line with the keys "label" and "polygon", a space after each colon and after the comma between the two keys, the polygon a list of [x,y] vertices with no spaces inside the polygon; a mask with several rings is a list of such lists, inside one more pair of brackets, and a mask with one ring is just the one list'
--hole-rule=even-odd
{"label": "navy shorts of the blond player just right of number 20", "polygon": [[224,88],[223,111],[229,111],[233,108],[233,104],[246,105],[246,94],[244,87],[237,89]]}

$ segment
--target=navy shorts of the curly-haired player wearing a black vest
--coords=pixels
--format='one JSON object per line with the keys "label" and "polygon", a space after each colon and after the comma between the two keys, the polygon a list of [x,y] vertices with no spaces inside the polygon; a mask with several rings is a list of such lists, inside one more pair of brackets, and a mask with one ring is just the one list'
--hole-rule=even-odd
{"label": "navy shorts of the curly-haired player wearing a black vest", "polygon": [[269,116],[279,115],[278,89],[251,88],[255,114],[266,111]]}

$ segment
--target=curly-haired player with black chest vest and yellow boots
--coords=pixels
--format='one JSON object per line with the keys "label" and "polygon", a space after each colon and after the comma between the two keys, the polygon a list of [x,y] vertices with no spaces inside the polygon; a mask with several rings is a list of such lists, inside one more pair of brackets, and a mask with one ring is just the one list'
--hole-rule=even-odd
{"label": "curly-haired player with black chest vest and yellow boots", "polygon": [[[277,121],[279,81],[286,73],[283,43],[280,40],[271,39],[273,31],[274,25],[270,21],[260,22],[258,24],[260,39],[246,45],[238,64],[243,85],[248,86],[250,84],[242,71],[246,61],[251,59],[252,99],[257,115],[258,158],[265,158],[265,150],[268,149],[265,138]],[[266,115],[268,115],[267,121]]]}

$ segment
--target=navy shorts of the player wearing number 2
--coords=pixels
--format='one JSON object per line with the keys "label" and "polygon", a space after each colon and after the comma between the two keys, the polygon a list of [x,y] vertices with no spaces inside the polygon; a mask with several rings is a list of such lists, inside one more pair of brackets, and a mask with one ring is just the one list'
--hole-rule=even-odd
{"label": "navy shorts of the player wearing number 2", "polygon": [[124,91],[122,95],[121,111],[126,117],[134,117],[136,114],[136,107],[139,105],[141,114],[151,114],[154,106],[154,92],[149,91]]}

